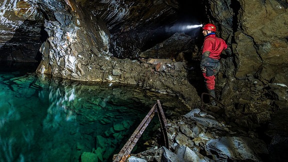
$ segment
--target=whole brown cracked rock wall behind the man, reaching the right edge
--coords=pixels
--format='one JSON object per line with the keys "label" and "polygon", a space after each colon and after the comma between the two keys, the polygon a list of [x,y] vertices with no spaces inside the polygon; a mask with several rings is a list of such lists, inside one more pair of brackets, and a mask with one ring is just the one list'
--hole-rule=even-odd
{"label": "whole brown cracked rock wall behind the man, reaching the right edge", "polygon": [[[271,79],[287,85],[288,20],[285,0],[208,0],[211,21],[231,44],[238,78],[255,74],[263,82]],[[264,68],[264,70],[262,70]],[[264,72],[268,69],[270,72]],[[277,71],[271,72],[271,71]],[[269,74],[268,74],[269,73]]]}

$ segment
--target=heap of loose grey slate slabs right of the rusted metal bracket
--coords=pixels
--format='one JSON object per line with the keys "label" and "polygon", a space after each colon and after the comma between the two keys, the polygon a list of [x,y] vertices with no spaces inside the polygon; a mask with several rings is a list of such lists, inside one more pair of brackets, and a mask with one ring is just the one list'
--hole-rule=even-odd
{"label": "heap of loose grey slate slabs right of the rusted metal bracket", "polygon": [[196,108],[169,120],[169,148],[152,148],[134,156],[146,161],[261,161],[261,154],[268,153],[263,140],[229,127],[220,118]]}

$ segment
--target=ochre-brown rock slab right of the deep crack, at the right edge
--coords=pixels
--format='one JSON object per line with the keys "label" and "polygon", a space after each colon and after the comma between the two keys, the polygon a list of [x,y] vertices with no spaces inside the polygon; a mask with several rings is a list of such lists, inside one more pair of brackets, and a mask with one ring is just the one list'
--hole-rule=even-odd
{"label": "ochre-brown rock slab right of the deep crack, at the right edge", "polygon": [[[258,78],[265,82],[286,85],[288,83],[287,68],[285,67],[288,61],[286,54],[288,31],[285,29],[285,23],[288,20],[287,4],[287,1],[284,0],[240,0],[239,22],[244,35],[241,33],[239,35],[251,39],[249,44],[253,44],[256,50],[255,54],[261,59],[262,64],[259,69],[262,70],[262,67],[266,67],[275,71],[269,73],[262,70],[263,72],[260,72]],[[245,52],[239,53],[239,59],[244,58],[244,54]],[[248,59],[247,56],[246,59]],[[249,63],[253,64],[249,61],[246,64]],[[243,75],[242,71],[239,74]],[[278,77],[278,74],[284,77]]]}

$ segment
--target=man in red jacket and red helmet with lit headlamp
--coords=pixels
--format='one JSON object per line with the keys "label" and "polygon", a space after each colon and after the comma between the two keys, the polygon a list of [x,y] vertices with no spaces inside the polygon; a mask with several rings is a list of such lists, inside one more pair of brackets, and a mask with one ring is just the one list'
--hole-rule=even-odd
{"label": "man in red jacket and red helmet with lit headlamp", "polygon": [[[202,27],[202,29],[205,38],[202,46],[200,68],[204,76],[208,93],[215,98],[215,75],[220,69],[220,54],[222,50],[225,50],[227,55],[231,55],[231,49],[223,39],[216,37],[216,26],[214,24],[207,23]],[[210,103],[216,105],[215,100],[211,97]]]}

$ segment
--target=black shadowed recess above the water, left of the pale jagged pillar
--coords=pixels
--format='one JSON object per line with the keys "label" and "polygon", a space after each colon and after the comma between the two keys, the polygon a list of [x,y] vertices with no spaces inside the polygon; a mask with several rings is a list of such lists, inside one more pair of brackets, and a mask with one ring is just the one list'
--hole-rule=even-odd
{"label": "black shadowed recess above the water, left of the pale jagged pillar", "polygon": [[[39,48],[47,39],[47,32],[44,30],[42,21],[25,20],[13,34],[13,37],[0,47],[0,61],[7,68],[34,68],[40,62],[42,56]],[[25,65],[24,65],[25,64]],[[28,65],[30,64],[30,65]],[[21,66],[23,65],[23,66]]]}

